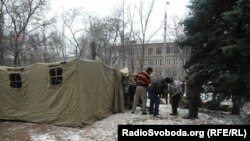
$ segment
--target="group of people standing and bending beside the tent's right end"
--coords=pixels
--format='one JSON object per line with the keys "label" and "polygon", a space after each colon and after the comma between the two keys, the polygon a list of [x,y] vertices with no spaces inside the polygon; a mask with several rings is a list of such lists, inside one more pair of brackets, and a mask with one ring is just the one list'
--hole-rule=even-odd
{"label": "group of people standing and bending beside the tent's right end", "polygon": [[[124,78],[125,73],[123,70],[121,70],[121,72]],[[171,77],[151,80],[150,75],[152,74],[152,72],[153,68],[148,67],[145,71],[141,71],[135,76],[133,76],[135,85],[130,84],[129,86],[133,87],[134,91],[131,91],[130,89],[124,91],[124,95],[126,95],[124,96],[125,108],[131,109],[131,113],[135,113],[137,105],[141,102],[142,115],[148,114],[146,112],[148,94],[150,99],[149,114],[157,116],[159,115],[160,105],[159,95],[168,96],[169,94],[170,103],[172,107],[172,113],[170,115],[177,115],[179,100],[184,90],[183,86],[174,81]],[[126,87],[125,83],[122,84],[123,88]]]}

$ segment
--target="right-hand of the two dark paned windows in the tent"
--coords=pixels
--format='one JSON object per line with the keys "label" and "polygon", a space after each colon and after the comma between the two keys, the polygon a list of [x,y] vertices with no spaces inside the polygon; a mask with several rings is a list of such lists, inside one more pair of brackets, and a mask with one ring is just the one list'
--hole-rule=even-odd
{"label": "right-hand of the two dark paned windows in the tent", "polygon": [[51,85],[59,85],[63,82],[63,70],[62,68],[53,68],[49,70],[50,75],[50,84]]}

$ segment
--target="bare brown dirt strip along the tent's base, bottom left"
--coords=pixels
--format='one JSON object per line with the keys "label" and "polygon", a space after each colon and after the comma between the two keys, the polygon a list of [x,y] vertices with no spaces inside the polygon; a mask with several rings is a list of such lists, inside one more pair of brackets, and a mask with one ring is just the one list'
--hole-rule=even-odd
{"label": "bare brown dirt strip along the tent's base, bottom left", "polygon": [[[32,138],[32,135],[39,134],[53,134],[53,140],[66,141],[64,138],[66,135],[63,134],[67,131],[78,132],[79,128],[42,125],[19,121],[0,121],[0,141],[42,141],[41,139]],[[43,141],[48,141],[48,139],[44,139]]]}

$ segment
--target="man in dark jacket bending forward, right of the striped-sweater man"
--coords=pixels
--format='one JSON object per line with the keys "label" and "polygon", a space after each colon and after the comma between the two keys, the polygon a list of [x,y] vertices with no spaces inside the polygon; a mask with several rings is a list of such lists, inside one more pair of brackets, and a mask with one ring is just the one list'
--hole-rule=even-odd
{"label": "man in dark jacket bending forward, right of the striped-sweater man", "polygon": [[164,94],[167,91],[168,83],[167,79],[159,78],[153,81],[151,86],[148,89],[150,105],[149,105],[149,114],[157,116],[159,114],[159,104],[160,104],[160,94]]}

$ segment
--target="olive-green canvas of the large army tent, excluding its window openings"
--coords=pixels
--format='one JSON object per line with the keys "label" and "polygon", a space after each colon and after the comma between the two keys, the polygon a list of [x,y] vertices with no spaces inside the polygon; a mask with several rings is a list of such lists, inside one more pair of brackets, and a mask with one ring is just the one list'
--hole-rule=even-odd
{"label": "olive-green canvas of the large army tent, excluding its window openings", "polygon": [[[50,70],[62,69],[62,83],[52,85]],[[11,87],[19,73],[21,88]],[[82,126],[124,112],[119,70],[98,61],[73,59],[24,68],[0,67],[0,119],[60,126]]]}

